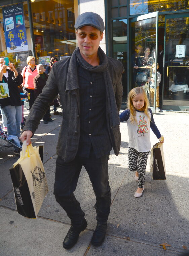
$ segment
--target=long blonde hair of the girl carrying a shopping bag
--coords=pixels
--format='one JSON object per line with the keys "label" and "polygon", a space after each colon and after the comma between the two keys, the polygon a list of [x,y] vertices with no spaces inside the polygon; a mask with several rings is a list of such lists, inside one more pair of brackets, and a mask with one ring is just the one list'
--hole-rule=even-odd
{"label": "long blonde hair of the girl carrying a shopping bag", "polygon": [[146,96],[146,93],[144,91],[144,89],[142,87],[135,87],[133,88],[129,94],[128,94],[128,98],[127,98],[127,108],[130,110],[130,122],[137,123],[137,119],[136,119],[136,109],[133,106],[133,97],[135,97],[138,94],[142,94],[142,96],[144,97],[144,107],[141,109],[142,111],[144,111],[144,113],[147,115],[147,117],[150,120],[150,116],[148,114],[148,107],[149,107],[149,101],[148,98]]}

